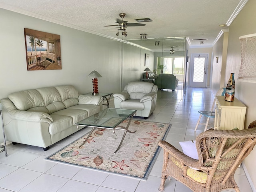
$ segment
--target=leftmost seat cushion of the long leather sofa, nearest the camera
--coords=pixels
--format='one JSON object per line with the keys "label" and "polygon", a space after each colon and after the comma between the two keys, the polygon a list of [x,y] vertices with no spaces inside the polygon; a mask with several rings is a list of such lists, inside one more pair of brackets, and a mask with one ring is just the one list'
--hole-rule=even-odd
{"label": "leftmost seat cushion of the long leather sofa, nearest the camera", "polygon": [[49,126],[49,133],[51,135],[62,132],[67,128],[71,127],[73,124],[73,118],[70,116],[63,115],[50,115],[53,122]]}

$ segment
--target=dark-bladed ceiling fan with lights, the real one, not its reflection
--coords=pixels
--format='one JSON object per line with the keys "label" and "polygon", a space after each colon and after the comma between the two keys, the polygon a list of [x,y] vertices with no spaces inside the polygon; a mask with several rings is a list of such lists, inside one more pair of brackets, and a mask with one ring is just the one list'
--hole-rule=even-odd
{"label": "dark-bladed ceiling fan with lights, the real one, not its reflection", "polygon": [[118,24],[104,26],[104,27],[116,26],[116,27],[120,28],[117,30],[116,36],[119,35],[119,30],[120,30],[120,31],[122,31],[122,35],[127,37],[127,32],[126,32],[127,27],[136,27],[136,26],[146,25],[146,24],[142,24],[142,23],[128,23],[128,21],[124,21],[124,17],[126,16],[125,13],[120,13],[119,16],[120,16],[121,20],[116,19],[116,23],[118,23]]}

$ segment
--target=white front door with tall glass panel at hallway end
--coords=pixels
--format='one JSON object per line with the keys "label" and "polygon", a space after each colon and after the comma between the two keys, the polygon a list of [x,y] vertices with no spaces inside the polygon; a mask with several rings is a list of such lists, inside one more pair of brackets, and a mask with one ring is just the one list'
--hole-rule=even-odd
{"label": "white front door with tall glass panel at hallway end", "polygon": [[190,87],[206,87],[208,54],[191,55]]}

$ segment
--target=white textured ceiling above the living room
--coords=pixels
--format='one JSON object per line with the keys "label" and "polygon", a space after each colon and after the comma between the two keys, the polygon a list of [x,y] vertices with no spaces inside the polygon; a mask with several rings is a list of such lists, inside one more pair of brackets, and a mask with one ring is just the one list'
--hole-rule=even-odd
{"label": "white textured ceiling above the living room", "polygon": [[[239,12],[247,0],[0,0],[0,8],[62,24],[86,32],[118,39],[187,37],[191,46],[212,46],[230,17]],[[130,26],[128,36],[116,36],[119,13],[124,20],[151,18],[146,26]],[[200,41],[204,40],[204,45]]]}

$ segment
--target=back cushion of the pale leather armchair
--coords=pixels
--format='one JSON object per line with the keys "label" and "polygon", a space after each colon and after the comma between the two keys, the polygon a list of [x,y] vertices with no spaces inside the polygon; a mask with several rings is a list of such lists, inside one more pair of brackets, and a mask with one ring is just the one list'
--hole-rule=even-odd
{"label": "back cushion of the pale leather armchair", "polygon": [[126,86],[126,90],[131,99],[141,99],[145,94],[152,91],[154,84],[150,82],[130,82]]}

